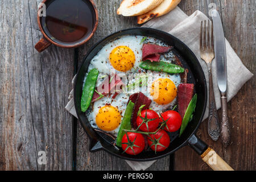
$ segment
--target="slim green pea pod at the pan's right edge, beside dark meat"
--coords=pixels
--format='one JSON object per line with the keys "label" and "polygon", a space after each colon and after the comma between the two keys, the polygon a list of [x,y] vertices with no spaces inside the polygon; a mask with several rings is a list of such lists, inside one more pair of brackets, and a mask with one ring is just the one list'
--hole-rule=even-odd
{"label": "slim green pea pod at the pan's right edge, beside dark meat", "polygon": [[180,136],[183,134],[183,131],[188,126],[188,123],[193,118],[193,113],[196,109],[196,101],[197,101],[197,94],[192,98],[192,100],[189,102],[188,108],[185,112],[184,118],[182,120],[181,128],[180,128]]}

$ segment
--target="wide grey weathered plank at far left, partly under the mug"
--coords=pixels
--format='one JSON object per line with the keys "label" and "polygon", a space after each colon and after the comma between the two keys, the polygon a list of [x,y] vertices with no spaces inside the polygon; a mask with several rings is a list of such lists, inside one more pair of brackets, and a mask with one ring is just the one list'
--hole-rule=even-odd
{"label": "wide grey weathered plank at far left, partly under the mug", "polygon": [[[73,50],[34,49],[42,34],[40,0],[1,1],[0,169],[72,168],[72,117],[64,107],[73,75]],[[37,163],[46,151],[47,164]]]}

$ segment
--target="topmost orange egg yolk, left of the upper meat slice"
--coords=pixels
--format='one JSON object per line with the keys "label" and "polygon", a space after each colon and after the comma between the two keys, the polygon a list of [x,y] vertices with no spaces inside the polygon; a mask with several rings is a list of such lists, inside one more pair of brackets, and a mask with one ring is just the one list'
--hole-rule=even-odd
{"label": "topmost orange egg yolk, left of the upper meat slice", "polygon": [[127,72],[134,66],[135,55],[129,47],[118,46],[110,53],[109,61],[114,69],[121,72]]}

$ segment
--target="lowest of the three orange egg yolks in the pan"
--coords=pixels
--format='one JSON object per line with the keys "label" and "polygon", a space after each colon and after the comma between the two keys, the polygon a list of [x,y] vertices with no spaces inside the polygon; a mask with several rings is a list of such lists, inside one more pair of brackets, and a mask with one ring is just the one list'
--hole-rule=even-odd
{"label": "lowest of the three orange egg yolks in the pan", "polygon": [[97,126],[104,131],[112,131],[117,129],[121,123],[121,114],[118,109],[113,106],[104,106],[96,115]]}

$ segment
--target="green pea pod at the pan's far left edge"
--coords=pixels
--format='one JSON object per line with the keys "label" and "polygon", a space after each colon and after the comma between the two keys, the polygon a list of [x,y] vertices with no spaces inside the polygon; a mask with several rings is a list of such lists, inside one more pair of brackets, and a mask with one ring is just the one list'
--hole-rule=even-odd
{"label": "green pea pod at the pan's far left edge", "polygon": [[84,84],[84,88],[82,89],[82,97],[81,97],[81,110],[85,112],[90,106],[90,101],[92,101],[96,81],[98,78],[98,69],[92,69],[87,77]]}

